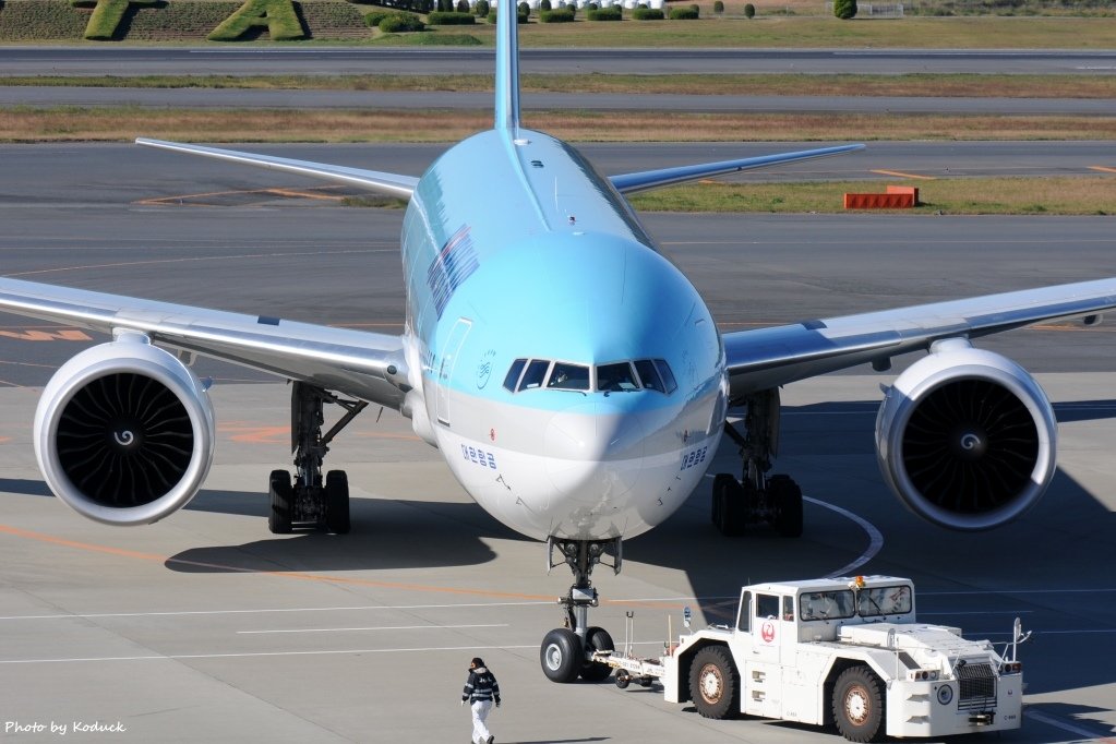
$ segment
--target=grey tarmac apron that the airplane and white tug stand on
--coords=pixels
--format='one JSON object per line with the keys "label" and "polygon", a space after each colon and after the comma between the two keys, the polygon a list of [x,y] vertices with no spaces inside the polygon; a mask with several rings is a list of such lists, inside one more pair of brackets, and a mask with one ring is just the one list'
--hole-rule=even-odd
{"label": "grey tarmac apron that the airplane and white tug stand on", "polygon": [[[408,173],[433,154],[392,147],[373,165],[369,148],[299,152],[311,151]],[[402,320],[401,211],[234,197],[309,184],[140,148],[4,147],[0,158],[6,276],[356,327]],[[173,199],[203,193],[225,195]],[[1112,218],[645,222],[730,329],[1116,276]],[[492,718],[499,742],[834,741],[760,719],[710,722],[656,689],[548,683],[538,642],[560,620],[552,600],[568,573],[548,576],[542,545],[475,506],[392,412],[364,414],[330,452],[330,466],[349,472],[353,533],[271,535],[262,490],[289,460],[289,390],[201,365],[217,378],[219,421],[202,493],[150,528],[86,522],[47,495],[30,421],[33,388],[90,340],[26,319],[0,326],[0,725],[44,726],[9,732],[17,741],[46,741],[51,724],[74,722],[126,728],[83,734],[89,741],[464,741],[458,699],[478,655],[504,689]],[[998,741],[1110,738],[1116,673],[1097,661],[1116,654],[1112,328],[1022,330],[981,346],[1036,371],[1056,402],[1060,471],[1023,519],[991,533],[945,532],[889,495],[872,427],[878,386],[893,375],[857,369],[795,384],[783,392],[778,470],[811,500],[806,535],[720,538],[700,489],[625,545],[619,576],[595,574],[607,601],[594,622],[623,642],[634,611],[636,648],[653,655],[667,615],[675,632],[684,606],[699,626],[722,622],[749,580],[849,567],[912,576],[927,621],[998,642],[1017,616],[1036,630],[1021,648],[1024,727]],[[710,472],[733,466],[727,445]]]}

